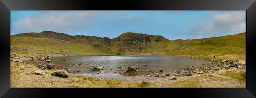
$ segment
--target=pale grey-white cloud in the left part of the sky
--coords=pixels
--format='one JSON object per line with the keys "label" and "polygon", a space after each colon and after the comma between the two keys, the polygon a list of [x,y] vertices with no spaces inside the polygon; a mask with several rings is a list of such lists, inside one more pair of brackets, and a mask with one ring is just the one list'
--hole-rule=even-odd
{"label": "pale grey-white cloud in the left part of the sky", "polygon": [[102,11],[43,11],[13,24],[19,32],[65,31],[73,32],[96,24],[91,19],[104,14]]}

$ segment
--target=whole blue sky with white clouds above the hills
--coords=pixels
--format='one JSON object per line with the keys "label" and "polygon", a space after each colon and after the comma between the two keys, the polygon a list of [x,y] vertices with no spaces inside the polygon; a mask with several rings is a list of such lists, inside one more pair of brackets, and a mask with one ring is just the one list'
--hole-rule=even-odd
{"label": "whole blue sky with white clouds above the hills", "polygon": [[134,32],[198,39],[245,32],[245,15],[218,10],[12,10],[11,35],[54,31],[116,38]]}

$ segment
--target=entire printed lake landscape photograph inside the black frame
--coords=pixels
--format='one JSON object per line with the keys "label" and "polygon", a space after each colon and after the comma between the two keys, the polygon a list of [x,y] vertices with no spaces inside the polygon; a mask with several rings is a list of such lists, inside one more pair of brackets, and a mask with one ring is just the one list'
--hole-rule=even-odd
{"label": "entire printed lake landscape photograph inside the black frame", "polygon": [[246,88],[246,11],[10,14],[10,88]]}

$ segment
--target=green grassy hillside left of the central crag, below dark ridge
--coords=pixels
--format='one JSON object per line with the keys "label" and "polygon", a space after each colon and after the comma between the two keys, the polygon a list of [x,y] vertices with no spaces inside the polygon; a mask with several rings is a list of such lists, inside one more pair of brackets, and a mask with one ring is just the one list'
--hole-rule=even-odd
{"label": "green grassy hillside left of the central crag, below dark ridge", "polygon": [[[58,37],[58,38],[57,38]],[[72,40],[58,35],[55,38],[45,36],[11,36],[11,52],[24,54],[25,56],[72,56],[89,54],[114,54],[109,46],[94,36],[73,36]],[[88,38],[83,38],[88,37]],[[60,39],[61,38],[61,39]],[[91,42],[90,42],[90,41]],[[96,41],[95,41],[96,40]],[[109,39],[110,40],[110,39]]]}

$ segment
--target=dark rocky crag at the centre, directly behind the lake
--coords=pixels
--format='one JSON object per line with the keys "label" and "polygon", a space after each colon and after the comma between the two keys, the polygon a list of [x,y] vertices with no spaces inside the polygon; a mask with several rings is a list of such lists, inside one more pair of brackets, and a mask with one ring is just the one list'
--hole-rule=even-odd
{"label": "dark rocky crag at the centre, directly behind the lake", "polygon": [[164,46],[165,42],[168,41],[163,36],[139,33],[123,33],[112,39],[113,47],[117,48],[117,53],[119,54],[127,54],[127,51],[131,54],[155,53],[156,51],[161,51],[158,48]]}

